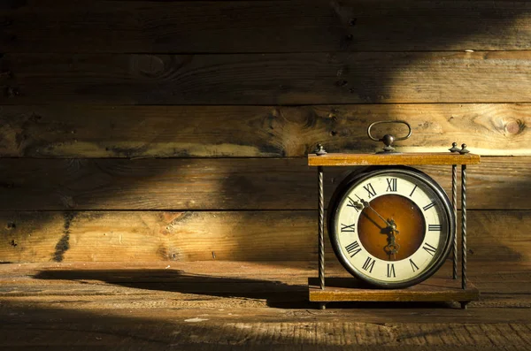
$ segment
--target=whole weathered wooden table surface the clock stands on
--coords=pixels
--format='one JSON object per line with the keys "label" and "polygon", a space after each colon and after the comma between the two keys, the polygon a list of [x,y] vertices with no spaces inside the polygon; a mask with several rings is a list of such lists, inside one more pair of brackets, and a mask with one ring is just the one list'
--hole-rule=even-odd
{"label": "whole weathered wooden table surface the clock stands on", "polygon": [[[450,266],[437,273],[449,274]],[[531,349],[531,263],[471,262],[481,301],[308,300],[313,263],[7,263],[2,349]],[[344,276],[336,264],[328,276]]]}

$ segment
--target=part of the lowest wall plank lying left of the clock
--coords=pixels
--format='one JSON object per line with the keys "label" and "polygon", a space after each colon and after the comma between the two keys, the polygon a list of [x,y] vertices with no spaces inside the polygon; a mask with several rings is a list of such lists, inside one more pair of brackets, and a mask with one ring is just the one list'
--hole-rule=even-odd
{"label": "part of the lowest wall plank lying left of the clock", "polygon": [[2,215],[16,226],[2,228],[11,238],[2,243],[4,262],[260,261],[285,260],[278,255],[284,250],[292,259],[314,251],[315,225],[304,211]]}

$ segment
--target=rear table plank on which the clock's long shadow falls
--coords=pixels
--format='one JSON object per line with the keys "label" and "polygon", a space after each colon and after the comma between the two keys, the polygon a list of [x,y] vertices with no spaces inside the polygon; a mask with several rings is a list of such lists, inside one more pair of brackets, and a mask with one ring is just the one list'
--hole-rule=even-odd
{"label": "rear table plank on which the clock's long shadow falls", "polygon": [[[250,307],[267,305],[280,307],[282,302],[293,302],[291,308],[307,307],[308,277],[317,274],[317,263],[312,262],[173,262],[173,263],[19,263],[3,264],[0,274],[0,296],[21,301],[25,297],[38,304],[47,296],[85,309],[99,309],[100,301],[81,300],[81,296],[115,296],[115,303],[127,303],[130,297],[143,299],[147,305],[157,308],[167,293],[174,294],[166,301],[168,307]],[[435,273],[435,277],[448,277],[451,264]],[[481,301],[475,307],[531,307],[531,266],[528,262],[472,261],[468,278],[481,290]],[[327,261],[327,275],[351,277],[339,263]],[[194,296],[196,294],[196,296]],[[153,296],[151,300],[145,296]],[[227,296],[237,299],[229,300]],[[223,302],[225,300],[225,303]],[[218,304],[218,305],[217,305]],[[391,304],[392,305],[392,304]],[[135,304],[130,305],[135,306]],[[332,305],[333,306],[333,305]],[[344,306],[344,305],[343,305]],[[118,305],[116,307],[119,307]],[[289,307],[285,305],[284,307]],[[368,305],[367,307],[370,307]],[[395,306],[396,307],[396,306]],[[437,312],[437,309],[432,309]],[[409,310],[411,312],[411,309]],[[479,310],[476,310],[479,312]],[[501,312],[501,310],[500,310]],[[360,310],[362,313],[362,310]],[[381,316],[384,314],[382,313]],[[405,318],[411,318],[411,313]],[[452,314],[442,314],[443,322],[450,322]],[[465,322],[473,321],[471,315],[459,315]],[[482,316],[482,317],[481,317]],[[480,320],[488,315],[478,314]],[[504,321],[505,317],[491,316],[492,322]],[[366,315],[366,317],[368,317]],[[401,313],[394,315],[402,319]],[[499,317],[499,316],[498,316]],[[527,314],[526,316],[530,316]],[[421,317],[418,322],[429,322]],[[514,322],[518,322],[515,317]]]}

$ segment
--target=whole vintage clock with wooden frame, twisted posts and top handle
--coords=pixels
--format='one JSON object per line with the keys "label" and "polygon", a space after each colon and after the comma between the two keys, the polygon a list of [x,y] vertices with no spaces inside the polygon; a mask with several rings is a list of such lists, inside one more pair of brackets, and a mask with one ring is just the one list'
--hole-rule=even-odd
{"label": "whole vintage clock with wooden frame, twisted posts and top handle", "polygon": [[[408,134],[374,138],[373,126],[401,123]],[[479,292],[466,284],[466,164],[478,164],[457,143],[445,153],[399,153],[396,140],[411,136],[405,121],[375,122],[367,129],[385,147],[377,154],[327,154],[322,146],[309,155],[318,166],[319,284],[310,282],[310,300],[322,308],[328,301],[458,301],[464,308]],[[412,165],[452,166],[452,201],[434,179]],[[462,185],[462,279],[458,285],[457,165]],[[327,209],[327,230],[335,256],[354,279],[324,278],[323,167],[357,166],[335,187]],[[451,279],[433,278],[450,256]],[[429,279],[429,283],[423,283]],[[328,286],[328,287],[327,287]]]}

